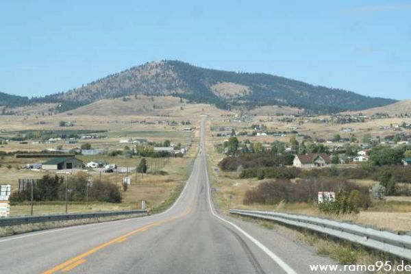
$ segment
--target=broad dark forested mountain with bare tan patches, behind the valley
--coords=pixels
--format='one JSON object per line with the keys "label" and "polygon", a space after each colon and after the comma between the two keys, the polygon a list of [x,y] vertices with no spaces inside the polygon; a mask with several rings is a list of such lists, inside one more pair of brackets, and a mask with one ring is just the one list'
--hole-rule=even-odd
{"label": "broad dark forested mountain with bare tan patches, behind the valley", "polygon": [[364,110],[395,102],[275,75],[203,69],[173,60],[146,63],[36,101],[61,102],[62,111],[129,95],[172,95],[219,108],[290,105],[318,113]]}

